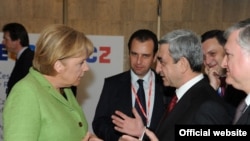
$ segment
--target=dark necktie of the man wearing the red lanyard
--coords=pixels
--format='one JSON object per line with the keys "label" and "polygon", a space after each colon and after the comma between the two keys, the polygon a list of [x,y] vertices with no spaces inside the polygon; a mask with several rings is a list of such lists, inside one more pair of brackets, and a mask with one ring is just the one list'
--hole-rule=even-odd
{"label": "dark necktie of the man wearing the red lanyard", "polygon": [[[137,83],[139,84],[139,89],[137,91],[137,97],[138,97],[139,102],[137,101],[137,99],[135,100],[135,108],[136,108],[137,112],[140,114],[144,125],[147,125],[147,119],[143,115],[143,112],[142,112],[142,110],[144,110],[145,114],[147,114],[145,92],[144,92],[144,88],[143,88],[143,80],[139,79],[139,80],[137,80]],[[141,108],[143,108],[143,109],[140,108],[139,103],[141,104],[141,106],[142,106]]]}

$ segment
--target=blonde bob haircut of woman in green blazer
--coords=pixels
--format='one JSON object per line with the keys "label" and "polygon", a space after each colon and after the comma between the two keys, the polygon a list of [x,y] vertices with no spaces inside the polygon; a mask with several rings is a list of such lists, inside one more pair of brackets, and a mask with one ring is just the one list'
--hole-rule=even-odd
{"label": "blonde bob haircut of woman in green blazer", "polygon": [[66,25],[53,24],[41,33],[35,48],[33,67],[45,75],[55,75],[54,64],[57,60],[84,56],[93,53],[92,42],[84,33]]}

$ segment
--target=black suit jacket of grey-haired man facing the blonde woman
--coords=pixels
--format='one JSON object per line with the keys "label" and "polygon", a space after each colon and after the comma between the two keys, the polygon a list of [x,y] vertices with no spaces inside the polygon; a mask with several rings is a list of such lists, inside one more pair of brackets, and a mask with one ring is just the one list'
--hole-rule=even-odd
{"label": "black suit jacket of grey-haired man facing the blonde woman", "polygon": [[192,86],[173,110],[159,124],[156,136],[160,141],[175,140],[175,125],[231,124],[225,102],[216,94],[208,81],[202,79]]}

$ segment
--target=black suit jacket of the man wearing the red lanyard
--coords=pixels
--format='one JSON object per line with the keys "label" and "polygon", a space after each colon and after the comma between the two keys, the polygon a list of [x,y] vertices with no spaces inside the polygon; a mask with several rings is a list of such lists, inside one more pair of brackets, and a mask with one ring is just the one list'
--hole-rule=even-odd
{"label": "black suit jacket of the man wearing the red lanyard", "polygon": [[[150,129],[155,130],[166,107],[164,103],[162,79],[155,75],[155,101]],[[126,115],[132,114],[132,93],[130,71],[106,78],[95,111],[92,127],[94,133],[105,141],[117,141],[122,135],[114,130],[111,115],[120,110]]]}

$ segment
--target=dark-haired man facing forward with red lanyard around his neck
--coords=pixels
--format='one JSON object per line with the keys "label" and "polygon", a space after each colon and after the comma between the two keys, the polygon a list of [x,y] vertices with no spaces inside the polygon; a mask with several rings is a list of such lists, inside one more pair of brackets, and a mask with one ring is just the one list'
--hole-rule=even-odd
{"label": "dark-haired man facing forward with red lanyard around his neck", "polygon": [[151,68],[158,50],[156,35],[146,29],[137,30],[129,39],[128,50],[131,68],[105,79],[92,123],[95,134],[105,141],[117,141],[123,135],[122,132],[136,137],[141,136],[142,133],[138,132],[138,127],[133,123],[126,123],[128,128],[120,128],[119,124],[115,127],[111,119],[111,116],[115,116],[117,112],[134,117],[132,108],[136,104],[143,103],[137,97],[138,79],[144,81],[146,107],[139,109],[144,113],[141,117],[147,119],[144,126],[154,131],[164,113],[165,88],[160,77]]}

